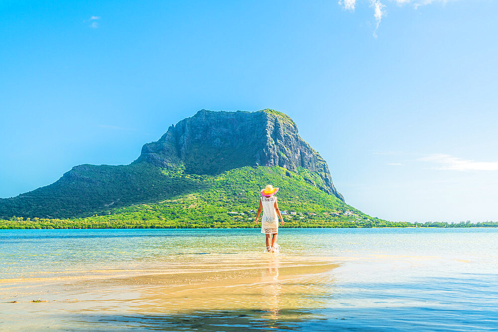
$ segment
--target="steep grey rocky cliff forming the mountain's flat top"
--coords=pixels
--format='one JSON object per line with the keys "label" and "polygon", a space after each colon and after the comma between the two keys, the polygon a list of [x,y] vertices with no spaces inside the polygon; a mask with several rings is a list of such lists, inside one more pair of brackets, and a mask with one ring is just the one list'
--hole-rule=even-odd
{"label": "steep grey rocky cliff forming the mountain's flat top", "polygon": [[306,168],[323,181],[323,191],[343,196],[332,183],[325,160],[298,134],[287,115],[257,112],[198,111],[169,127],[156,142],[145,144],[134,163],[159,167],[184,165],[188,173],[219,174],[244,166]]}

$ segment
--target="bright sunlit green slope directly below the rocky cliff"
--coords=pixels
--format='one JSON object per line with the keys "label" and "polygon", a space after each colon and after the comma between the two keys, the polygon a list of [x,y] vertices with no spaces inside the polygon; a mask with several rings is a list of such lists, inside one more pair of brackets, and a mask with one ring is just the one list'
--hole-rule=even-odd
{"label": "bright sunlit green slope directly below the rocky cliff", "polygon": [[[278,204],[281,211],[288,212],[284,219],[289,226],[382,223],[312,185],[320,178],[306,169],[292,172],[278,166],[257,166],[236,168],[215,176],[195,176],[182,170],[175,173],[200,189],[173,199],[113,209],[107,215],[85,221],[110,227],[120,223],[143,227],[251,227],[253,211],[259,205],[261,183],[274,183],[280,188]],[[352,215],[344,216],[348,211]],[[290,215],[291,212],[296,215]],[[334,212],[338,215],[332,215]]]}

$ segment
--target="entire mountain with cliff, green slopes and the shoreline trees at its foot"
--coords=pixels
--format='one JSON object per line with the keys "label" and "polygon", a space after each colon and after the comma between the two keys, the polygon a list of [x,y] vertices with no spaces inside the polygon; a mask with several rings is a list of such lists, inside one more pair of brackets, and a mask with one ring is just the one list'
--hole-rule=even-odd
{"label": "entire mountain with cliff, green slopes and the shoreline trees at its foot", "polygon": [[[248,166],[256,160],[286,168]],[[413,226],[345,204],[327,163],[299,137],[294,121],[263,110],[199,111],[145,144],[129,165],[79,165],[49,186],[0,199],[0,229],[259,227],[254,210],[266,184],[280,188],[284,227]]]}

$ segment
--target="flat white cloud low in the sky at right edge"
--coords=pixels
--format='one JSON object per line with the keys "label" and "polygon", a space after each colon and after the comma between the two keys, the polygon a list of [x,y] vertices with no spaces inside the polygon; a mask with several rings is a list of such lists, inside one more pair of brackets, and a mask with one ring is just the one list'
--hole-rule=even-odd
{"label": "flat white cloud low in the sky at right edge", "polygon": [[498,161],[475,161],[453,157],[449,154],[431,154],[418,161],[435,163],[438,166],[431,167],[436,170],[450,171],[498,171]]}

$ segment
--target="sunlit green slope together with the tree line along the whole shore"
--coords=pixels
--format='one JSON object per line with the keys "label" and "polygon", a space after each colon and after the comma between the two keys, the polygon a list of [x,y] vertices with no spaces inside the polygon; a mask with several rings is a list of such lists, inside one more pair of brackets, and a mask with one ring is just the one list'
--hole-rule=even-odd
{"label": "sunlit green slope together with the tree line along the whole shore", "polygon": [[[187,174],[182,167],[176,167],[162,169],[159,175],[147,179],[155,179],[148,186],[166,189],[165,199],[109,207],[85,218],[12,217],[0,220],[0,229],[257,228],[260,224],[253,222],[254,210],[259,204],[259,190],[267,183],[280,187],[277,195],[279,208],[288,213],[284,216],[283,227],[413,227],[408,222],[372,218],[344,204],[337,197],[318,189],[322,179],[304,168],[291,172],[277,166],[242,167],[211,176]],[[146,199],[146,196],[141,199]],[[498,226],[498,223],[426,222],[418,226],[473,227]]]}

